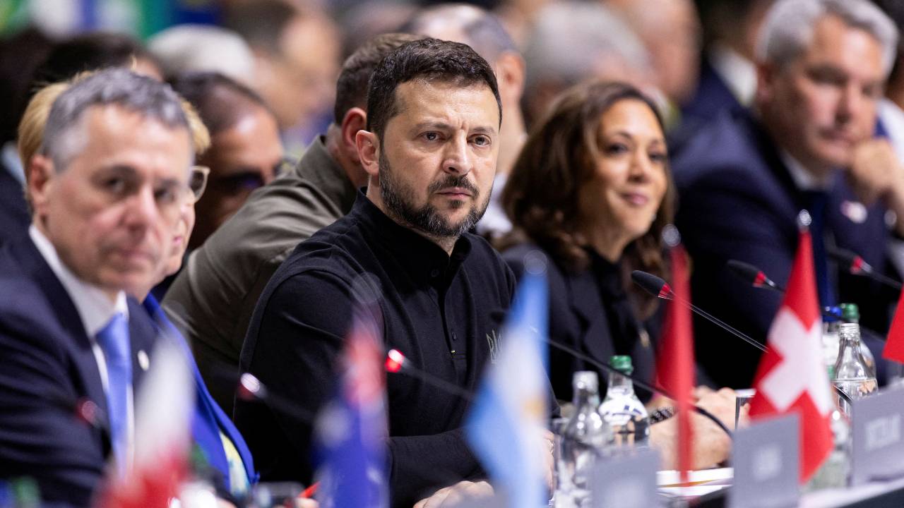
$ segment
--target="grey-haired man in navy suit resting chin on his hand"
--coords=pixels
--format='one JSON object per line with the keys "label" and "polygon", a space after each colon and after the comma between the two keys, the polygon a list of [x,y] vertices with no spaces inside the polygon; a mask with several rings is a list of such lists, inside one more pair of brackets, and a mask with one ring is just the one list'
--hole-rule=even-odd
{"label": "grey-haired man in navy suit resting chin on his hand", "polygon": [[[890,219],[904,217],[904,170],[873,135],[897,44],[894,24],[865,0],[772,6],[758,42],[754,109],[724,112],[672,159],[696,305],[765,343],[781,297],[741,283],[726,262],[747,262],[785,285],[805,209],[820,305],[856,303],[864,328],[888,328],[898,295],[831,262],[826,248],[896,272],[902,244],[893,237],[904,235],[904,221]],[[758,352],[700,319],[694,331],[711,380],[749,387]],[[881,344],[868,335],[863,342],[878,357]],[[877,366],[881,379],[884,362]]]}

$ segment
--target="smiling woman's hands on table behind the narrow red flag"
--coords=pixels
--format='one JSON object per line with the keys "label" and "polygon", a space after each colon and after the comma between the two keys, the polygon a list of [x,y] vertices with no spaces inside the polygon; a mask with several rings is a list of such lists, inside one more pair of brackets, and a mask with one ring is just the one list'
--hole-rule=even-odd
{"label": "smiling woman's hands on table behind the narrow red flag", "polygon": [[[701,390],[696,405],[709,411],[714,417],[720,419],[725,427],[734,427],[735,392],[728,388],[719,391]],[[748,408],[741,409],[739,415],[739,427],[747,425]],[[691,425],[693,426],[693,468],[719,464],[729,457],[731,452],[731,438],[725,431],[719,428],[710,419],[699,413],[692,413]],[[678,419],[667,419],[650,428],[650,444],[659,450],[663,457],[663,468],[674,469],[678,466]]]}

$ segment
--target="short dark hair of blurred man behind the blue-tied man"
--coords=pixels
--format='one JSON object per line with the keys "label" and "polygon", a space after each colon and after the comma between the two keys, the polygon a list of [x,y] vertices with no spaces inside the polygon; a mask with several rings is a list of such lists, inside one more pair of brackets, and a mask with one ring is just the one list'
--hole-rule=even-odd
{"label": "short dark hair of blurred man behind the blue-tied man", "polygon": [[186,72],[170,84],[192,103],[211,136],[234,126],[250,107],[262,108],[272,115],[254,90],[219,72]]}

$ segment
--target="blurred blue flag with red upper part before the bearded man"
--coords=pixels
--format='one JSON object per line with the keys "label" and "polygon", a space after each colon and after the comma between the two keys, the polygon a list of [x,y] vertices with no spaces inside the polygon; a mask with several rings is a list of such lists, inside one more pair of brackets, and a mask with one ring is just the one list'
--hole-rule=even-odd
{"label": "blurred blue flag with red upper part before the bearded man", "polygon": [[378,326],[355,315],[334,400],[317,417],[316,500],[321,508],[384,508],[386,391]]}

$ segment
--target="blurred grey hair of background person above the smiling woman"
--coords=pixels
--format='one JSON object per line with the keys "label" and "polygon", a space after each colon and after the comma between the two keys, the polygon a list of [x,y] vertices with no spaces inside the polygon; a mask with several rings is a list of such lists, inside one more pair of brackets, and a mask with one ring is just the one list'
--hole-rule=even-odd
{"label": "blurred grey hair of background person above the smiling woman", "polygon": [[647,72],[643,42],[600,3],[560,2],[544,7],[524,49],[527,88],[545,80],[575,84],[589,77],[600,55]]}

